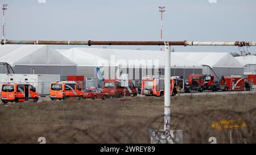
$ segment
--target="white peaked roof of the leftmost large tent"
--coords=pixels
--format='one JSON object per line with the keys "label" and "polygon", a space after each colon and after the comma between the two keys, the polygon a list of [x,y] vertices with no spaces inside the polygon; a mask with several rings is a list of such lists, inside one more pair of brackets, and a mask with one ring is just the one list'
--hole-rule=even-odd
{"label": "white peaked roof of the leftmost large tent", "polygon": [[12,66],[76,66],[48,45],[0,45],[0,62]]}

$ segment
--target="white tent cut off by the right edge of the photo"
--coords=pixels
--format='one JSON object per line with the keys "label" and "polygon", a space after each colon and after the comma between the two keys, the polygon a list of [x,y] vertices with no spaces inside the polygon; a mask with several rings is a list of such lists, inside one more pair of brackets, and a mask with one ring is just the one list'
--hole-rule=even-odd
{"label": "white tent cut off by the right edge of the photo", "polygon": [[245,66],[245,74],[256,74],[256,56],[240,56],[236,59]]}

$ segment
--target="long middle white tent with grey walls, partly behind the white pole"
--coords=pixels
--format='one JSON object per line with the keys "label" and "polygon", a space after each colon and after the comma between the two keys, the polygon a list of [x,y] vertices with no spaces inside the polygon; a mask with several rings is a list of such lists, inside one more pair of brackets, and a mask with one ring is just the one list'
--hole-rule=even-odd
{"label": "long middle white tent with grey walls, partly behind the white pole", "polygon": [[[77,63],[77,74],[97,77],[95,67],[100,66],[105,78],[128,73],[130,79],[164,75],[164,52],[127,49],[71,48],[57,50]],[[119,68],[119,69],[118,69]],[[171,55],[171,75],[188,77],[192,73],[202,73],[201,66],[184,57]]]}

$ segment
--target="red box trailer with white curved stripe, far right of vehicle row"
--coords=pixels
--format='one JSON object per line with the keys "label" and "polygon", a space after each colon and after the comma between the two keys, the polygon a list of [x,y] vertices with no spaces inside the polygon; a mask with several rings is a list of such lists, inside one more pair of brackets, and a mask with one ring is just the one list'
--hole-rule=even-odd
{"label": "red box trailer with white curved stripe, far right of vehicle row", "polygon": [[245,90],[245,78],[242,76],[224,77],[222,85],[228,86],[229,90]]}

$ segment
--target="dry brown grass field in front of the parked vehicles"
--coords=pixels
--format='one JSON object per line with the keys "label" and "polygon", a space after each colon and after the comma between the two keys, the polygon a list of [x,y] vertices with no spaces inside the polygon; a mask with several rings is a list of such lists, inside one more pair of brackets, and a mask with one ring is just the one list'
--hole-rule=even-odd
{"label": "dry brown grass field in front of the parked vehicles", "polygon": [[[0,104],[0,143],[150,143],[149,129],[163,129],[164,98],[131,101],[67,100]],[[173,97],[171,129],[184,131],[184,143],[229,143],[229,131],[216,131],[217,120],[239,119],[233,143],[256,143],[256,94]]]}

